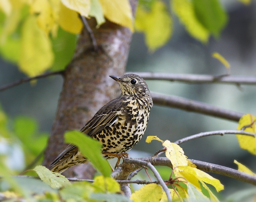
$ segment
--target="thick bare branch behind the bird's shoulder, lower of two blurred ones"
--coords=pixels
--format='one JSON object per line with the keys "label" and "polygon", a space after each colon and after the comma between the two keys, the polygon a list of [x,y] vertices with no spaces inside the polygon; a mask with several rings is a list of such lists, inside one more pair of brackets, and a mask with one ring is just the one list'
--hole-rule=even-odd
{"label": "thick bare branch behind the bird's shoulder, lower of two blurred ones", "polygon": [[201,102],[163,95],[158,93],[151,93],[153,98],[153,103],[156,105],[175,107],[178,109],[186,110],[189,112],[202,113],[214,117],[219,117],[228,120],[238,121],[244,114],[239,112],[234,112],[226,109],[222,109],[216,106],[207,105]]}

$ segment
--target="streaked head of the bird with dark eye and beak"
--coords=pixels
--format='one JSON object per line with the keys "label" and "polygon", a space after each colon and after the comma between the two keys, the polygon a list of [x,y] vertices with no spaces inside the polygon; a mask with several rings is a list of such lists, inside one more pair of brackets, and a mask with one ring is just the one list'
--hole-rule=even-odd
{"label": "streaked head of the bird with dark eye and beak", "polygon": [[140,76],[136,74],[124,74],[121,77],[110,77],[120,84],[121,96],[130,96],[136,99],[140,98],[148,102],[150,106],[153,105],[148,85]]}

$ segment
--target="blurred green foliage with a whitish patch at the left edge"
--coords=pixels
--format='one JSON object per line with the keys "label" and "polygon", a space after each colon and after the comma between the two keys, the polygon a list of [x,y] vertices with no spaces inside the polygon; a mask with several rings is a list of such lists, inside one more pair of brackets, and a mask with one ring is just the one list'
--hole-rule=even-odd
{"label": "blurred green foliage with a whitish patch at the left edge", "polygon": [[[38,132],[36,120],[18,116],[11,121],[0,108],[0,158],[8,172],[18,174],[42,154],[48,136],[48,133]],[[37,164],[42,160],[43,155]]]}

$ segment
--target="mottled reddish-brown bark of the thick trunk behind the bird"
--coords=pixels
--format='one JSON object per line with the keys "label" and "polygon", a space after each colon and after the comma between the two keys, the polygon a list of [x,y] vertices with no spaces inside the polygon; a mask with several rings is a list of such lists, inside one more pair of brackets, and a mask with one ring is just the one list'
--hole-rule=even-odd
{"label": "mottled reddish-brown bark of the thick trunk behind the bird", "polygon": [[[133,1],[133,9],[135,4]],[[63,142],[65,131],[80,130],[103,105],[120,94],[118,83],[108,75],[124,74],[132,32],[109,21],[98,29],[95,19],[88,20],[88,23],[99,51],[94,51],[88,32],[83,30],[74,58],[64,73],[56,118],[45,151],[45,166],[67,146]],[[94,172],[88,165],[71,167],[63,174],[89,179]]]}

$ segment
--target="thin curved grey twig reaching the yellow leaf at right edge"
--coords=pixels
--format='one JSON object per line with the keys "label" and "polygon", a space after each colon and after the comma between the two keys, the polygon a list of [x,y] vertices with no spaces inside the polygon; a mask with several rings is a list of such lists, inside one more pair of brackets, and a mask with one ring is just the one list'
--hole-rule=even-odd
{"label": "thin curved grey twig reaching the yellow leaf at right edge", "polygon": [[188,142],[189,140],[194,140],[200,137],[206,137],[206,136],[213,136],[213,135],[225,135],[225,134],[241,134],[241,135],[247,135],[247,136],[252,136],[255,137],[255,133],[249,133],[245,132],[244,130],[215,130],[215,131],[209,131],[209,132],[202,132],[198,133],[192,136],[184,137],[180,140],[175,141],[175,144],[181,144],[184,142]]}

